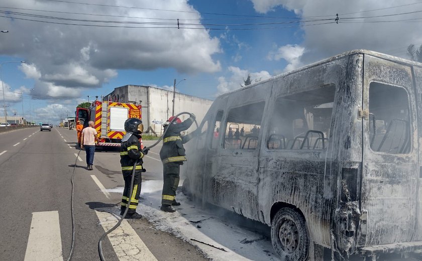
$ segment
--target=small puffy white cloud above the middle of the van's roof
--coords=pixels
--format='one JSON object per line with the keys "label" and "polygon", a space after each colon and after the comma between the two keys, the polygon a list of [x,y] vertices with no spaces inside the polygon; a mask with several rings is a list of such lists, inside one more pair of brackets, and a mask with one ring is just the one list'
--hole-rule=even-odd
{"label": "small puffy white cloud above the middle of the van's roof", "polygon": [[300,57],[305,52],[305,48],[298,46],[298,45],[285,45],[279,47],[276,51],[271,51],[268,53],[268,60],[272,61],[279,61],[284,59],[288,62],[286,68],[284,68],[285,72],[294,70],[298,68],[300,63]]}

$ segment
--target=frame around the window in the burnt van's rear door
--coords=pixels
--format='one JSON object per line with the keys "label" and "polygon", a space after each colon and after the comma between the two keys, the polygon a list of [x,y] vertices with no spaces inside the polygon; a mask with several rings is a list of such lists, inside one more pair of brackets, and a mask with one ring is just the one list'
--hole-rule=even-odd
{"label": "frame around the window in the burnt van's rear door", "polygon": [[[400,86],[400,85],[392,84],[392,83],[386,83],[386,82],[382,82],[382,81],[379,81],[379,80],[370,80],[369,81],[369,84],[367,86],[368,104],[366,104],[366,106],[368,106],[368,110],[369,110],[369,104],[371,103],[371,101],[369,99],[369,89],[370,89],[371,83],[373,83],[373,82],[379,83],[379,84],[384,84],[384,85],[390,85],[390,86],[397,87],[397,88],[402,88],[406,92],[406,94],[407,94],[407,106],[408,106],[408,109],[409,109],[409,127],[410,127],[410,130],[409,130],[409,132],[410,132],[410,135],[409,135],[410,141],[409,141],[409,143],[410,143],[410,150],[407,153],[388,153],[388,152],[379,152],[379,151],[372,150],[372,147],[371,147],[371,144],[370,144],[371,141],[369,139],[369,136],[370,136],[370,126],[369,125],[368,125],[369,128],[366,130],[367,131],[367,135],[368,135],[368,141],[365,141],[365,140],[363,141],[363,142],[369,142],[369,144],[367,146],[365,146],[365,148],[368,147],[369,148],[369,151],[371,153],[377,154],[377,155],[391,155],[391,156],[397,156],[397,157],[412,155],[414,153],[414,139],[412,138],[412,133],[415,131],[414,130],[414,124],[415,123],[414,123],[414,118],[412,117],[413,111],[412,111],[411,106],[410,106],[411,105],[410,104],[411,103],[411,99],[410,99],[409,92],[407,91],[407,88],[404,87],[404,86]],[[369,110],[369,113],[371,113],[370,110]],[[368,124],[370,123],[369,122],[369,118],[368,119],[365,119],[365,120],[368,120]]]}

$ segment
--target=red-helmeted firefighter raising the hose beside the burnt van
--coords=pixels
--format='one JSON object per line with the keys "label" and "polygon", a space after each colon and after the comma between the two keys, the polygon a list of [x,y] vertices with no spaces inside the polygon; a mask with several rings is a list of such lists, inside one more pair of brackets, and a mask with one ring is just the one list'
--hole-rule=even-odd
{"label": "red-helmeted firefighter raising the hose beside the burnt van", "polygon": [[186,161],[183,144],[188,142],[196,132],[194,131],[183,137],[180,134],[192,125],[195,115],[190,114],[190,117],[183,122],[176,118],[172,124],[169,124],[173,118],[174,116],[171,116],[163,124],[164,130],[167,129],[167,132],[163,136],[163,147],[160,151],[164,179],[160,209],[165,212],[174,212],[176,210],[172,206],[180,205],[176,201],[176,189],[179,186],[180,165],[183,165],[183,162]]}

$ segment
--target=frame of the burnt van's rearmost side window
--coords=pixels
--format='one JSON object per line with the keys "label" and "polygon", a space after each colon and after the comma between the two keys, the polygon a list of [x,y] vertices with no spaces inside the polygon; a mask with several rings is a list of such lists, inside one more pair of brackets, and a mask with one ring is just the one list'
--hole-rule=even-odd
{"label": "frame of the burnt van's rearmost side window", "polygon": [[[323,85],[314,85],[311,86],[309,88],[304,88],[301,89],[300,91],[297,92],[291,92],[291,93],[282,93],[280,95],[278,95],[272,102],[271,107],[269,108],[268,113],[272,113],[275,109],[275,105],[278,99],[283,98],[283,97],[287,97],[290,95],[294,95],[294,94],[299,94],[299,93],[303,93],[303,92],[307,92],[307,91],[312,91],[312,90],[316,90],[316,89],[322,89],[322,88],[327,88],[327,87],[334,87],[334,99],[333,99],[333,108],[332,108],[332,112],[331,112],[331,119],[330,119],[330,134],[327,137],[324,137],[325,139],[331,139],[331,136],[333,134],[333,114],[334,112],[338,109],[338,104],[336,104],[336,96],[338,95],[338,84],[336,84],[335,82],[330,82],[330,83],[326,83]],[[271,118],[268,119],[271,124]],[[326,153],[328,151],[329,145],[330,143],[325,146],[325,149],[312,149],[312,150],[306,150],[306,149],[290,149],[290,148],[286,148],[286,149],[270,149],[268,148],[268,142],[269,142],[269,138],[271,136],[270,131],[271,131],[271,127],[270,124],[268,124],[268,126],[266,126],[266,132],[265,132],[265,143],[263,143],[261,146],[264,148],[264,150],[266,152],[275,152],[275,153],[280,153],[280,152],[298,152],[298,153],[303,153],[303,152],[307,152],[307,153]],[[311,130],[308,130],[311,131]],[[288,141],[286,141],[286,146],[288,144]]]}

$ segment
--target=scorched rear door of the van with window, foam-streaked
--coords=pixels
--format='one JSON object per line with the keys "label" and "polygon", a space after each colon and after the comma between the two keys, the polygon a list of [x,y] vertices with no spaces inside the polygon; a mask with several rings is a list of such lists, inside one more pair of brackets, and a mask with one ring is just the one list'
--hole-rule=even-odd
{"label": "scorched rear door of the van with window, foam-streaked", "polygon": [[[415,239],[418,143],[411,67],[365,55],[361,246]],[[365,215],[363,215],[363,218]],[[361,223],[361,226],[364,222]]]}

